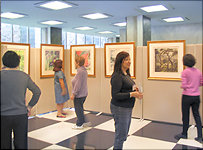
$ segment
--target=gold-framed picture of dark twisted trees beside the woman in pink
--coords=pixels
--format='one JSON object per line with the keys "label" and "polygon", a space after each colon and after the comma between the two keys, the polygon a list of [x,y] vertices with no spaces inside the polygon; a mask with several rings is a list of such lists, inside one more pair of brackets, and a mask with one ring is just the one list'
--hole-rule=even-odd
{"label": "gold-framed picture of dark twisted trees beside the woman in pink", "polygon": [[180,80],[185,40],[148,41],[148,79]]}

